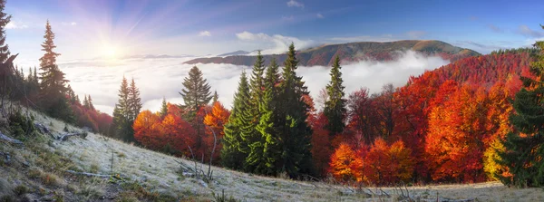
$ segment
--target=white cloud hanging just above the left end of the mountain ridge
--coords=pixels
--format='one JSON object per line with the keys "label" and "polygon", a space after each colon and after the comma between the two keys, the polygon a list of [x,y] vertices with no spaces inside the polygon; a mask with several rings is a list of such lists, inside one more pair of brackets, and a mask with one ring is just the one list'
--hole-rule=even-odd
{"label": "white cloud hanging just above the left end of the mountain ridge", "polygon": [[315,46],[313,40],[302,40],[292,36],[284,36],[280,34],[268,35],[264,33],[253,34],[248,31],[236,34],[238,40],[248,43],[257,43],[259,50],[263,50],[263,54],[284,53],[289,47],[289,44],[295,43],[296,49],[302,50]]}

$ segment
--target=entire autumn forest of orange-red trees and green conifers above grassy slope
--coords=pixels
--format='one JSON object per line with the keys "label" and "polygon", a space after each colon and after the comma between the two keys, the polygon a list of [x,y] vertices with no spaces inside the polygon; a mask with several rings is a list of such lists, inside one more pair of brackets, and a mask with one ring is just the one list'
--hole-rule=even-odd
{"label": "entire autumn forest of orange-red trees and green conifers above grassy slope", "polygon": [[[0,14],[4,28],[9,17]],[[56,64],[54,38],[47,22],[39,70],[2,70],[2,105],[18,101],[145,149],[263,176],[376,186],[544,185],[543,42],[456,57],[374,93],[364,86],[345,91],[342,65],[350,61],[338,51],[330,81],[316,97],[304,82],[312,78],[297,74],[300,53],[291,43],[284,61],[257,53],[253,68],[240,72],[232,106],[218,101],[221,95],[194,66],[180,81],[183,103],[164,99],[160,111],[142,109],[138,81],[123,78],[110,116],[94,108],[91,95],[81,101],[72,90]]]}

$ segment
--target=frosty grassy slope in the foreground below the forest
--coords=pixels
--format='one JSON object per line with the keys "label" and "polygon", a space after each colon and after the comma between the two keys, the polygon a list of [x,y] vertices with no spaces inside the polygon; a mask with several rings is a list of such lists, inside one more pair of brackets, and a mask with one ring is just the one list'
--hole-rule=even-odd
{"label": "frosty grassy slope in the foreground below the forest", "polygon": [[[64,123],[43,115],[37,121],[53,123],[53,135],[62,133]],[[72,127],[71,127],[72,128]],[[75,129],[75,128],[73,128]],[[77,129],[76,129],[77,130]],[[7,134],[9,135],[9,134]],[[225,191],[226,196],[246,201],[376,201],[379,197],[353,194],[340,186],[301,182],[281,178],[253,176],[246,173],[213,167],[215,180],[209,184],[177,173],[178,159],[169,155],[134,147],[115,139],[89,134],[86,139],[74,137],[67,141],[53,140],[40,135],[25,140],[25,147],[17,149],[0,142],[0,151],[11,154],[10,163],[0,155],[0,197],[13,195],[9,190],[23,185],[29,188],[29,199],[63,198],[65,201],[127,199],[170,201],[171,197],[187,201],[213,200],[212,192]],[[127,178],[87,178],[67,174],[65,170],[110,174],[113,155],[113,173]],[[25,165],[26,164],[26,165]],[[543,201],[539,188],[507,188],[498,182],[444,185],[408,188],[411,196],[471,198],[479,201]],[[371,188],[375,191],[375,188]],[[384,188],[391,195],[399,192]],[[19,197],[21,197],[19,196]],[[170,196],[170,197],[169,197]],[[17,198],[17,197],[15,197]],[[166,199],[165,199],[166,198]],[[1,201],[1,200],[0,200]]]}

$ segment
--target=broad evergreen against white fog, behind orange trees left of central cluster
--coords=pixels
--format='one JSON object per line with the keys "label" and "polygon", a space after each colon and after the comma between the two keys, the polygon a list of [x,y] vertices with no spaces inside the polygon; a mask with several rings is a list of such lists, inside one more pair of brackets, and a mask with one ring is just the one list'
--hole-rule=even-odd
{"label": "broad evergreen against white fog, behind orange trees left of central cluster", "polygon": [[192,121],[200,107],[209,104],[210,87],[197,66],[190,69],[189,76],[183,79],[182,84],[184,88],[180,91],[180,95],[185,102],[185,109],[190,112],[189,121]]}

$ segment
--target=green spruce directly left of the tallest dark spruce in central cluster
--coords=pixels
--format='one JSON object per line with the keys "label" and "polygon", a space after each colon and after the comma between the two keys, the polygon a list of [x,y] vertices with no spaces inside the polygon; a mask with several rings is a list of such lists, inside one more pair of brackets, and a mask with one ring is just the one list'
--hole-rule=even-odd
{"label": "green spruce directly left of the tallest dark spruce in central cluster", "polygon": [[261,136],[258,145],[254,145],[255,155],[247,159],[254,165],[255,172],[262,175],[277,175],[277,160],[281,155],[277,130],[277,111],[281,108],[277,104],[277,83],[280,82],[278,68],[276,58],[273,58],[267,68],[263,101],[259,103],[262,116],[258,122],[257,131]]}

